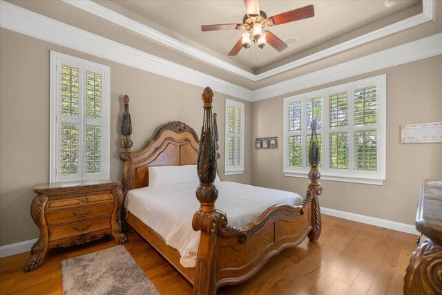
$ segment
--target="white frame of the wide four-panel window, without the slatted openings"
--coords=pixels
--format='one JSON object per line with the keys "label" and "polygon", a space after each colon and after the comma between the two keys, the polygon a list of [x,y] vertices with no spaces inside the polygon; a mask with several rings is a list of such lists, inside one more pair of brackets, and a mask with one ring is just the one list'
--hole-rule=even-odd
{"label": "white frame of the wide four-panel window, without the slatted openings", "polygon": [[[375,77],[369,77],[367,79],[361,79],[346,84],[340,84],[329,88],[323,88],[318,91],[311,91],[309,93],[302,93],[300,95],[294,95],[285,97],[284,104],[284,151],[283,151],[283,173],[289,177],[307,178],[309,172],[309,165],[307,161],[307,143],[304,142],[306,135],[309,134],[309,130],[306,128],[307,114],[306,102],[307,99],[315,97],[323,97],[323,110],[322,110],[322,126],[318,129],[318,135],[321,134],[322,138],[322,154],[320,155],[320,172],[321,179],[334,180],[343,182],[357,182],[364,184],[377,184],[383,185],[385,180],[386,170],[386,75],[378,75]],[[354,126],[354,90],[358,88],[365,88],[367,86],[376,86],[376,124],[370,126]],[[340,93],[342,91],[348,91],[348,126],[334,127],[333,130],[329,127],[329,95]],[[288,105],[291,102],[302,102],[302,120],[301,131],[298,131],[302,135],[302,168],[289,167],[289,153],[288,153]],[[354,132],[376,130],[376,155],[377,155],[377,167],[376,171],[355,171],[354,170]],[[347,170],[338,170],[329,168],[329,135],[332,133],[347,132],[348,134],[348,167]]]}

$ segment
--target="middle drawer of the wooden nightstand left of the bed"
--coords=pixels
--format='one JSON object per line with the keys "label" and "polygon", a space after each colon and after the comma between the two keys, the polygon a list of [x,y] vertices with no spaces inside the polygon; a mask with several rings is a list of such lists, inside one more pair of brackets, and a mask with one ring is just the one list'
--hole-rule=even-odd
{"label": "middle drawer of the wooden nightstand left of the bed", "polygon": [[46,224],[61,225],[66,222],[79,222],[88,218],[108,216],[112,214],[114,202],[107,202],[96,206],[82,206],[66,211],[51,211],[46,213]]}

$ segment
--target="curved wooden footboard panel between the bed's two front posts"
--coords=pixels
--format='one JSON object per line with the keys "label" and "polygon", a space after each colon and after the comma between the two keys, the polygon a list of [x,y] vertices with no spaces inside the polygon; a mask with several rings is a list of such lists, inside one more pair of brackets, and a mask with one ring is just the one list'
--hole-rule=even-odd
{"label": "curved wooden footboard panel between the bed's two front posts", "polygon": [[313,228],[308,216],[310,206],[306,209],[287,205],[271,207],[245,228],[247,241],[243,243],[234,236],[218,235],[215,289],[242,283],[282,249],[300,244]]}

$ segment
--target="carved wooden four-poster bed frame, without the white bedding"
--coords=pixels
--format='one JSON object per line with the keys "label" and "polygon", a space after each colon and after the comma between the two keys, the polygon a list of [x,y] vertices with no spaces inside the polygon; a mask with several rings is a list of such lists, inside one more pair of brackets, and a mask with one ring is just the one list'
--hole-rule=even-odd
{"label": "carved wooden four-poster bed frame, without the white bedding", "polygon": [[[180,264],[180,251],[166,245],[166,240],[130,209],[122,211],[122,219],[193,284],[194,294],[215,294],[216,289],[223,285],[244,282],[256,274],[269,258],[280,253],[282,249],[300,244],[307,236],[311,242],[318,241],[321,229],[318,196],[323,189],[318,182],[320,173],[316,166],[319,158],[315,142],[312,142],[309,153],[310,183],[302,202],[296,205],[273,204],[254,221],[244,227],[235,227],[227,220],[223,208],[215,208],[218,198],[218,189],[214,184],[217,172],[218,133],[216,120],[212,120],[212,117],[216,117],[212,115],[211,89],[205,88],[202,93],[204,116],[200,140],[190,126],[179,121],[171,122],[162,126],[154,139],[139,152],[131,151],[132,126],[127,95],[123,100],[124,140],[120,158],[125,162],[125,198],[131,190],[148,187],[149,167],[197,165],[200,185],[197,184],[198,188],[195,186],[195,189],[200,208],[191,221],[193,230],[200,231],[195,267],[183,267]],[[314,135],[316,128],[312,127]],[[253,196],[247,197],[253,200]],[[243,209],[247,210],[246,207]]]}

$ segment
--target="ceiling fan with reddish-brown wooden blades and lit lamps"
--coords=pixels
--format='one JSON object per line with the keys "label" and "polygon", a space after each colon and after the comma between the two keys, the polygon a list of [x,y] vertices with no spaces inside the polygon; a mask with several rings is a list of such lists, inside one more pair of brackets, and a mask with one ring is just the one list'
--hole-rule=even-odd
{"label": "ceiling fan with reddish-brown wooden blades and lit lamps", "polygon": [[267,14],[260,10],[258,0],[244,0],[244,4],[246,6],[247,14],[244,15],[242,23],[201,26],[202,32],[212,30],[247,30],[247,32],[242,34],[232,50],[230,50],[229,55],[238,55],[241,48],[249,48],[252,41],[258,44],[258,47],[261,49],[264,48],[266,43],[268,43],[271,47],[281,52],[288,46],[285,41],[276,37],[276,35],[269,30],[262,30],[262,28],[265,26],[278,26],[282,25],[282,23],[299,21],[300,19],[308,19],[315,15],[313,5],[282,12],[279,15],[273,15],[273,17],[267,17]]}

